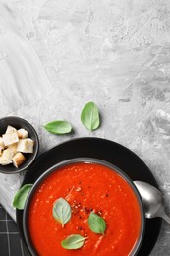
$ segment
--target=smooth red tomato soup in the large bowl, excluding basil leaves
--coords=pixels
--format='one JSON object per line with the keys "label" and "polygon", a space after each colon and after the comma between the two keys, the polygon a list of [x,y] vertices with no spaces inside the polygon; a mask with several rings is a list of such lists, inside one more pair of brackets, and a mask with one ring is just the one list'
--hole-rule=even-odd
{"label": "smooth red tomato soup in the large bowl, excluding basil leaves", "polygon": [[[53,215],[60,197],[72,208],[71,220],[62,227]],[[90,212],[106,222],[104,235],[89,229]],[[40,256],[130,255],[141,229],[138,200],[128,182],[98,163],[78,162],[52,172],[39,185],[30,203],[28,225]],[[80,249],[67,250],[61,241],[71,234],[88,237]]]}

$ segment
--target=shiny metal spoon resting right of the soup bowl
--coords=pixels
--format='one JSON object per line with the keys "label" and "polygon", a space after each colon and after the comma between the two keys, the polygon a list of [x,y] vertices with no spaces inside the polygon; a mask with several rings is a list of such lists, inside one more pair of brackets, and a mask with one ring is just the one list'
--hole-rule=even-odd
{"label": "shiny metal spoon resting right of the soup bowl", "polygon": [[170,224],[170,217],[165,214],[164,199],[161,192],[143,181],[134,181],[142,197],[146,218],[161,217]]}

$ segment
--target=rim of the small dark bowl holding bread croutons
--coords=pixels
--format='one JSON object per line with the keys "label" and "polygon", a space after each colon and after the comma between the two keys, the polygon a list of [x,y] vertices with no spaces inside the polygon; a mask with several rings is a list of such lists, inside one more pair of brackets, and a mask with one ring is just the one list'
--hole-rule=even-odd
{"label": "rim of the small dark bowl holding bread croutons", "polygon": [[35,137],[35,147],[34,147],[34,151],[33,153],[31,154],[31,157],[32,159],[28,162],[28,164],[26,164],[24,167],[20,167],[20,168],[16,168],[14,166],[14,170],[13,171],[8,171],[8,170],[2,170],[1,169],[1,166],[0,166],[0,172],[3,173],[3,174],[16,174],[16,173],[20,173],[24,170],[27,170],[28,167],[32,164],[32,162],[36,159],[37,155],[38,155],[38,152],[39,152],[39,138],[38,138],[38,135],[34,129],[34,127],[24,118],[21,118],[21,117],[18,117],[18,116],[5,116],[5,117],[2,117],[0,118],[0,122],[3,121],[3,120],[20,120],[21,122],[24,122],[26,123],[30,129],[32,130],[33,134],[34,134],[34,137]]}

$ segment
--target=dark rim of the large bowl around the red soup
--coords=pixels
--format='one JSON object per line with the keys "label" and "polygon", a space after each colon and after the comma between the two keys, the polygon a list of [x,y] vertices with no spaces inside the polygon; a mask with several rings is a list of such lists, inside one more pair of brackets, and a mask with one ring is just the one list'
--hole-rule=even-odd
{"label": "dark rim of the large bowl around the red soup", "polygon": [[28,208],[29,208],[29,204],[30,204],[31,198],[33,196],[33,193],[36,191],[39,184],[52,172],[57,171],[62,166],[70,165],[72,163],[77,163],[77,162],[98,163],[98,164],[104,165],[106,167],[109,167],[110,169],[115,171],[117,174],[119,174],[122,178],[124,178],[127,181],[127,183],[131,186],[131,188],[134,191],[136,198],[138,200],[140,210],[141,210],[141,219],[142,219],[141,232],[140,232],[138,241],[136,242],[134,248],[131,251],[131,256],[137,255],[137,253],[139,252],[139,250],[141,248],[142,240],[144,237],[144,231],[145,231],[145,214],[144,214],[144,209],[143,209],[143,205],[142,205],[142,197],[141,197],[137,187],[133,183],[132,179],[122,169],[120,169],[116,165],[114,165],[106,160],[99,160],[99,159],[95,159],[95,158],[74,158],[74,159],[62,160],[61,162],[58,162],[58,163],[54,164],[53,166],[51,166],[50,168],[48,168],[35,181],[30,192],[28,193],[28,198],[26,200],[25,208],[24,208],[24,212],[23,212],[23,230],[24,230],[24,236],[25,236],[26,243],[28,245],[29,252],[33,256],[37,255],[37,252],[35,251],[35,248],[33,247],[30,237],[29,237],[29,234],[28,234]]}

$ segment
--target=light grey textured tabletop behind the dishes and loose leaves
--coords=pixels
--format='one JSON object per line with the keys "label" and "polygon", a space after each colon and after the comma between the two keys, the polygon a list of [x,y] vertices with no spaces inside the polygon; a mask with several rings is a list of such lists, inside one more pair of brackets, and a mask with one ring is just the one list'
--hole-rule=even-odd
{"label": "light grey textured tabletop behind the dishes and loose leaves", "polygon": [[[0,118],[27,119],[41,152],[85,136],[126,146],[153,173],[170,214],[169,26],[169,0],[0,0]],[[80,121],[88,101],[102,116],[93,133]],[[42,125],[54,119],[74,133],[48,134]],[[0,203],[13,219],[24,175],[0,174]],[[151,256],[169,256],[169,240],[163,222]]]}

